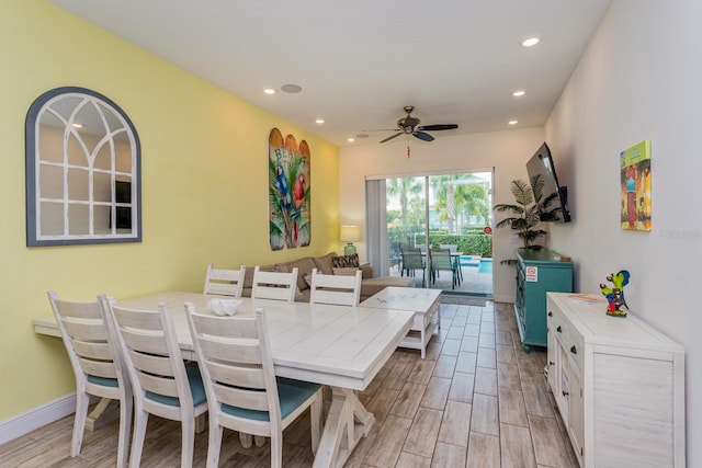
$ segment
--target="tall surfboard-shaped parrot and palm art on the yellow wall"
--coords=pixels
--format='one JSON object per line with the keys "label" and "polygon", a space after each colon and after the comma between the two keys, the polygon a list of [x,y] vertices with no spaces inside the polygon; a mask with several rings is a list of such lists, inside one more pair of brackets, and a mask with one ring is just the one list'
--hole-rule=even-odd
{"label": "tall surfboard-shaped parrot and palm art on the yellow wall", "polygon": [[269,135],[269,232],[271,249],[309,246],[309,147],[273,128]]}

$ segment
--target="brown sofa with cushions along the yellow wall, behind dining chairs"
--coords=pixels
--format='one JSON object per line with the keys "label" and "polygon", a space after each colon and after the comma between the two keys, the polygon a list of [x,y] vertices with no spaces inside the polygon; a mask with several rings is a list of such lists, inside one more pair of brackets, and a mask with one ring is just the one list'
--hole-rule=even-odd
{"label": "brown sofa with cushions along the yellow wall, behind dining chairs", "polygon": [[[358,254],[354,255],[337,255],[329,252],[322,256],[304,256],[302,259],[292,260],[284,263],[275,263],[272,265],[261,265],[262,271],[278,271],[290,273],[297,267],[297,293],[296,301],[309,301],[309,283],[312,282],[312,271],[317,269],[324,274],[349,274],[355,269],[363,271],[363,279],[361,281],[361,301],[367,299],[376,293],[388,286],[411,287],[415,286],[415,279],[406,276],[378,276],[373,277],[373,267],[371,265],[359,264]],[[245,297],[251,297],[251,288],[253,286],[253,267],[247,266],[246,277],[244,279]]]}

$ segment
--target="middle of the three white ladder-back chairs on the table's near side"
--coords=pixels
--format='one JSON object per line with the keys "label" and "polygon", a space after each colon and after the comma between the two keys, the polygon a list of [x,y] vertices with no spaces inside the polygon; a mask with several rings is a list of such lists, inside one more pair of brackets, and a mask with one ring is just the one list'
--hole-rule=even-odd
{"label": "middle of the three white ladder-back chairs on the table's near side", "polygon": [[181,422],[181,467],[191,467],[195,418],[207,411],[207,400],[197,363],[183,361],[168,306],[160,303],[158,310],[136,310],[101,299],[114,319],[134,388],[129,467],[140,464],[149,414]]}

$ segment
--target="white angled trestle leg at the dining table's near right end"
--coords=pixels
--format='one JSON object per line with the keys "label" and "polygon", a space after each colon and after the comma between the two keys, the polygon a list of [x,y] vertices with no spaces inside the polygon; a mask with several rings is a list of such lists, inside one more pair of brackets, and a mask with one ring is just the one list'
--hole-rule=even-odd
{"label": "white angled trestle leg at the dining table's near right end", "polygon": [[331,387],[331,406],[319,441],[314,467],[342,467],[361,437],[365,437],[375,416],[348,388]]}

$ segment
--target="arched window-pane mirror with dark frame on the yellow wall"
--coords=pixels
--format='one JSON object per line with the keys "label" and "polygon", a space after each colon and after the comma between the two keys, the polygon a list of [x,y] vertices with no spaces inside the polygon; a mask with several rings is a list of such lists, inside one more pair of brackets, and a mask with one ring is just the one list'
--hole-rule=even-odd
{"label": "arched window-pane mirror with dark frame on the yellow wall", "polygon": [[139,137],[104,95],[57,88],[26,116],[26,244],[140,242]]}

